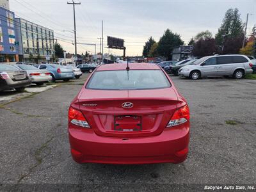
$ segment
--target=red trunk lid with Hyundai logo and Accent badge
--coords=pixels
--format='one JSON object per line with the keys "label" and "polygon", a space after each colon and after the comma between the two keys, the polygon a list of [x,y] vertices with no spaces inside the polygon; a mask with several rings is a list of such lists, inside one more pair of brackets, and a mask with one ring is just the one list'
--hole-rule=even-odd
{"label": "red trunk lid with Hyundai logo and Accent badge", "polygon": [[160,134],[177,108],[172,88],[157,90],[86,89],[79,106],[96,134],[138,137]]}

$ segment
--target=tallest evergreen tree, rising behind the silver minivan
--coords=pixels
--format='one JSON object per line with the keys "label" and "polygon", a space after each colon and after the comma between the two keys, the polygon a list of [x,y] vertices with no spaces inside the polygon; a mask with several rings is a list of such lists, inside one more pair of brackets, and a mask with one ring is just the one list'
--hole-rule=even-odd
{"label": "tallest evergreen tree, rising behind the silver minivan", "polygon": [[[215,39],[217,45],[223,44],[223,36],[230,38],[236,38],[237,36],[244,36],[244,25],[240,18],[239,11],[236,9],[229,9],[225,13],[225,17],[222,21],[218,33],[216,33]],[[242,44],[241,44],[242,47]]]}

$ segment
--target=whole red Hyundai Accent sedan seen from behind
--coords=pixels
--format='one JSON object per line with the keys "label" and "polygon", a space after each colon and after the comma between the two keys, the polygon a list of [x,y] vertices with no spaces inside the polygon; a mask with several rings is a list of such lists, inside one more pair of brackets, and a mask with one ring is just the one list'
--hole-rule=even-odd
{"label": "whole red Hyundai Accent sedan seen from behind", "polygon": [[77,163],[181,163],[189,108],[158,65],[100,65],[70,105],[68,133]]}

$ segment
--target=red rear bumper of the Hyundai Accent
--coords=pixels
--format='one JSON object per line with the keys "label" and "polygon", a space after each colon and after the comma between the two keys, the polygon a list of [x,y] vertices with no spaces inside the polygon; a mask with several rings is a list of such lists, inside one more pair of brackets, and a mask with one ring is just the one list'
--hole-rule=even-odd
{"label": "red rear bumper of the Hyundai Accent", "polygon": [[166,128],[157,136],[113,138],[69,124],[71,154],[77,163],[181,163],[189,145],[189,122]]}

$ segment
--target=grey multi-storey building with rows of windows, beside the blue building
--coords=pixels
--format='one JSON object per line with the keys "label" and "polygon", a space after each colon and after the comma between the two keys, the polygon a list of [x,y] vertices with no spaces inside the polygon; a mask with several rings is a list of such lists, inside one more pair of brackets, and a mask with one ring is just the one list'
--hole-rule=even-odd
{"label": "grey multi-storey building with rows of windows, beside the blue building", "polygon": [[54,32],[28,20],[15,18],[19,60],[40,63],[54,55]]}

